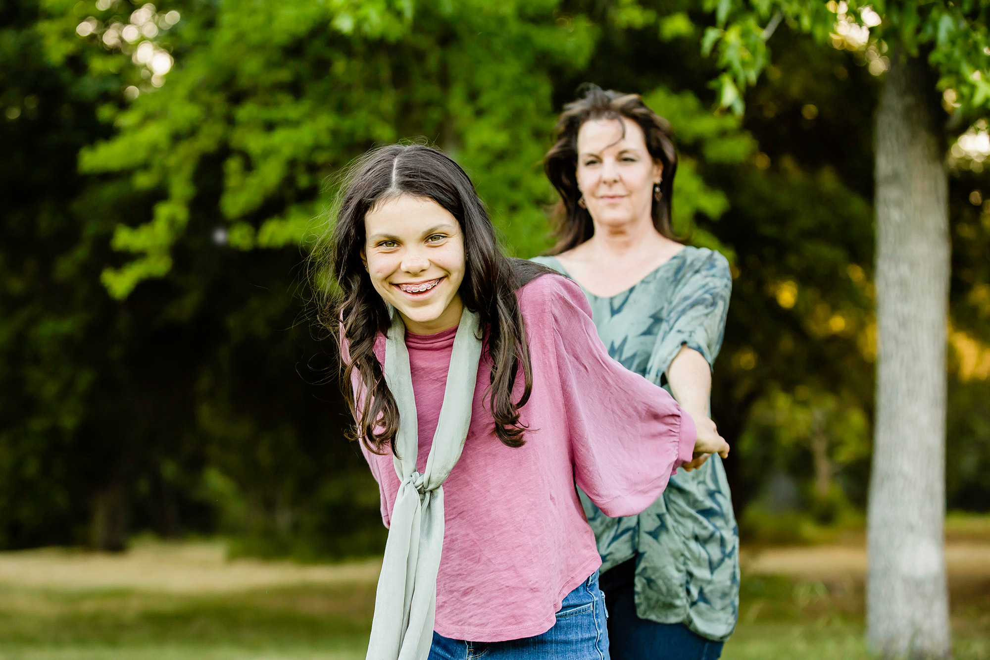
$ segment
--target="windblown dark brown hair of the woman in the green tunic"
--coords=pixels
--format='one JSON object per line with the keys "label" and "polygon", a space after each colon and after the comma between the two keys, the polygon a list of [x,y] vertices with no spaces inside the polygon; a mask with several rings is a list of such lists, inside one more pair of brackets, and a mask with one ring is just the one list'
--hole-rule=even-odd
{"label": "windblown dark brown hair of the woman in the green tunic", "polygon": [[677,173],[677,150],[674,149],[670,123],[650,110],[639,94],[623,94],[605,91],[598,85],[585,84],[580,97],[564,106],[557,119],[553,134],[556,143],[546,152],[544,171],[550,183],[560,194],[560,200],[552,211],[556,224],[556,245],[549,251],[559,255],[576,248],[595,234],[588,209],[578,204],[581,191],[577,187],[577,133],[585,122],[595,119],[623,117],[636,122],[643,129],[646,151],[663,165],[660,182],[660,198],[653,199],[650,214],[653,227],[662,236],[683,243],[670,224],[670,200],[674,192],[674,174]]}

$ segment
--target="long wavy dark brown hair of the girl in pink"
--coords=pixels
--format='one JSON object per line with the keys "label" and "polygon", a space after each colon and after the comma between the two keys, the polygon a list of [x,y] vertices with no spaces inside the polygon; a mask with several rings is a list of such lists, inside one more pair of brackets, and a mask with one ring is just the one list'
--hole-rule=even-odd
{"label": "long wavy dark brown hair of the girl in pink", "polygon": [[[460,299],[481,317],[487,335],[484,355],[492,363],[489,404],[495,433],[509,447],[521,447],[526,429],[520,408],[533,390],[533,369],[516,289],[539,275],[552,273],[532,262],[509,259],[499,250],[495,229],[470,178],[446,155],[425,145],[389,145],[365,154],[351,165],[337,204],[337,223],[313,254],[319,277],[332,275],[339,287],[318,287],[317,319],[341,342],[344,393],[357,420],[357,437],[369,450],[395,453],[401,420],[395,398],[374,355],[378,333],[390,326],[388,309],[361,262],[364,216],[376,204],[400,195],[429,198],[443,206],[464,235],[465,271]],[[517,376],[524,380],[512,400]],[[355,400],[351,383],[362,385]],[[359,408],[359,409],[358,409]]]}

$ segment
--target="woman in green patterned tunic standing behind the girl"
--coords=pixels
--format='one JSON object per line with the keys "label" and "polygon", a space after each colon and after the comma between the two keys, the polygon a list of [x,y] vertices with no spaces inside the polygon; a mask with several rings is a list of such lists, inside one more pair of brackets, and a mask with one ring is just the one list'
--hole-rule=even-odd
{"label": "woman in green patterned tunic standing behind the girl", "polygon": [[[581,285],[613,358],[668,388],[699,438],[717,437],[710,369],[732,276],[724,257],[671,230],[669,125],[640,96],[591,85],[566,106],[556,137],[545,171],[560,194],[559,241],[535,261]],[[736,626],[739,537],[725,470],[719,457],[683,467],[635,516],[608,517],[582,497],[615,660],[718,658]]]}

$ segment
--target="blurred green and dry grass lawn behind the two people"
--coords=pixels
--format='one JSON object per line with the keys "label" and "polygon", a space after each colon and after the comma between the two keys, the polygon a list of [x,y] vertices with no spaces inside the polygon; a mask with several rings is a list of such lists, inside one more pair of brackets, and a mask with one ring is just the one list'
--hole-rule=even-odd
{"label": "blurred green and dry grass lawn behind the two people", "polygon": [[[374,601],[366,563],[293,567],[153,550],[3,553],[0,660],[364,657]],[[990,660],[987,569],[952,578],[957,660]],[[723,658],[865,660],[862,636],[861,577],[749,573]]]}

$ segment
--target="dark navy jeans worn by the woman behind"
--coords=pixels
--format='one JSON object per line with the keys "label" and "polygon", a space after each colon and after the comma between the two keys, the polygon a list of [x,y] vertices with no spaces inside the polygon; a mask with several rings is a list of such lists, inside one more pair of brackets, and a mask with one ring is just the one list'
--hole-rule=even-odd
{"label": "dark navy jeans worn by the woman behind", "polygon": [[636,613],[636,558],[602,574],[609,612],[609,652],[612,660],[717,660],[723,642],[706,639],[683,623],[657,623]]}

